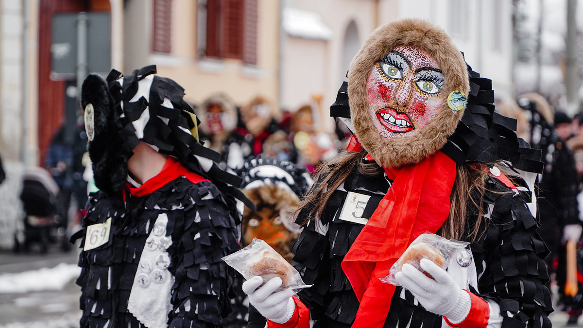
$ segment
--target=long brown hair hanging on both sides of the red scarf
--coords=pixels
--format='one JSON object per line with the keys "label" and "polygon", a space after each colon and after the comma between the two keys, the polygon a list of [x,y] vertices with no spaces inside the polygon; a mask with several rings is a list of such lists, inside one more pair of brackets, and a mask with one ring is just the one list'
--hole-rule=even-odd
{"label": "long brown hair hanging on both sides of the red scarf", "polygon": [[[376,175],[382,172],[376,163],[365,163],[363,157],[367,152],[343,152],[336,158],[322,163],[315,176],[316,183],[298,205],[298,211],[304,207],[311,207],[304,225],[310,219],[318,219],[318,214],[324,210],[332,193],[346,180],[351,173],[359,172],[363,175]],[[484,219],[482,196],[486,191],[487,170],[482,165],[476,168],[470,163],[457,166],[454,187],[451,191],[451,210],[449,217],[441,227],[441,236],[447,239],[469,239],[473,242],[482,236],[487,221]],[[472,194],[479,197],[472,198]],[[315,205],[313,205],[315,204]],[[475,207],[477,221],[468,225],[468,205]],[[469,229],[468,229],[469,228]]]}

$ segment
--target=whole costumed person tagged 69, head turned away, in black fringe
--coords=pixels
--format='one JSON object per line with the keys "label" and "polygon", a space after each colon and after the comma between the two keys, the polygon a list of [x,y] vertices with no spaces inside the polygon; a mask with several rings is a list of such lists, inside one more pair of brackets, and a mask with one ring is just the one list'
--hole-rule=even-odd
{"label": "whole costumed person tagged 69, head turned away, in black fringe", "polygon": [[199,142],[184,89],[155,73],[83,82],[100,191],[72,238],[82,327],[220,327],[231,312],[234,271],[221,257],[240,249],[241,179]]}

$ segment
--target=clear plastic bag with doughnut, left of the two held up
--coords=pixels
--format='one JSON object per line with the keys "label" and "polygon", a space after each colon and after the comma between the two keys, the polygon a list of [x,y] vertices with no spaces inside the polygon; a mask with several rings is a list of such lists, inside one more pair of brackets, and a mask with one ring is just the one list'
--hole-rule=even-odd
{"label": "clear plastic bag with doughnut, left of the two held up", "polygon": [[233,254],[222,258],[229,266],[238,271],[245,280],[260,275],[263,282],[271,278],[282,278],[282,288],[292,288],[295,292],[311,285],[304,284],[300,273],[262,239],[253,238],[251,243]]}

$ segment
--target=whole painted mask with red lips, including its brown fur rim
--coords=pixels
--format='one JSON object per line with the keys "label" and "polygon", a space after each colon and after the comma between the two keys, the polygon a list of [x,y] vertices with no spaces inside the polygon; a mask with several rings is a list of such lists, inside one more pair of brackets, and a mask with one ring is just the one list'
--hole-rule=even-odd
{"label": "whole painted mask with red lips, including its brown fur rim", "polygon": [[[468,67],[451,38],[419,20],[376,29],[348,71],[350,124],[384,168],[439,151],[463,116]],[[342,97],[340,97],[342,101]]]}

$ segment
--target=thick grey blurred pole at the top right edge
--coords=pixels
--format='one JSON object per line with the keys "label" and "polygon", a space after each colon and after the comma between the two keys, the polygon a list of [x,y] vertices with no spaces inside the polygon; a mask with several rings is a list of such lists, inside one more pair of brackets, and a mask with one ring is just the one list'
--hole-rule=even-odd
{"label": "thick grey blurred pole at the top right edge", "polygon": [[565,88],[567,92],[567,113],[573,116],[579,112],[579,66],[577,65],[577,1],[567,0],[567,67]]}

